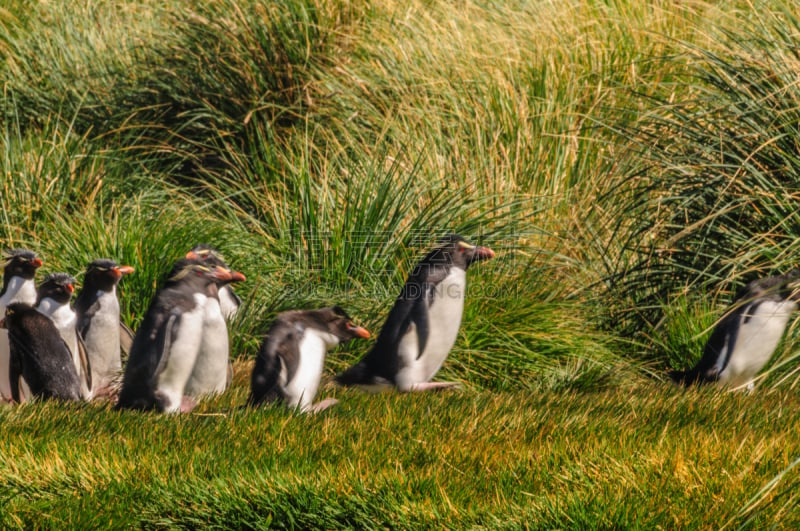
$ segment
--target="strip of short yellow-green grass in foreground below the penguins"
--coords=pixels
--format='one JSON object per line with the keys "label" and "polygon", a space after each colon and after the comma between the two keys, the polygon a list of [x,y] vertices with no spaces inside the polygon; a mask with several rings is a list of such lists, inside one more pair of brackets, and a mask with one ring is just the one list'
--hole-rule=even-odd
{"label": "strip of short yellow-green grass in foreground below the penguins", "polygon": [[[717,528],[800,440],[785,392],[328,388],[340,404],[302,416],[237,409],[241,383],[182,417],[3,408],[4,527]],[[775,489],[750,524],[796,526],[795,497]]]}

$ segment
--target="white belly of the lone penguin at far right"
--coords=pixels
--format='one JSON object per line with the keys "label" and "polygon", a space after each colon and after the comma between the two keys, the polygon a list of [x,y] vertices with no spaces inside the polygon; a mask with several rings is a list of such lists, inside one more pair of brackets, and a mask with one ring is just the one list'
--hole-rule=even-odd
{"label": "white belly of the lone penguin at far right", "polygon": [[764,301],[755,312],[743,316],[733,352],[720,373],[719,382],[738,387],[752,380],[769,362],[796,309],[797,304],[792,301]]}

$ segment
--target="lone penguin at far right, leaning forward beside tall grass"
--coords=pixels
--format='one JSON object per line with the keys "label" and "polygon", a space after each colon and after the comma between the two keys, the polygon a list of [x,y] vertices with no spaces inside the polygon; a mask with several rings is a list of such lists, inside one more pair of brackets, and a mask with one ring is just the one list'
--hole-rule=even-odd
{"label": "lone penguin at far right, leaning forward beside tall grass", "polygon": [[753,388],[753,378],[772,357],[800,301],[800,270],[750,282],[714,328],[703,357],[689,371],[673,371],[676,383],[718,382]]}

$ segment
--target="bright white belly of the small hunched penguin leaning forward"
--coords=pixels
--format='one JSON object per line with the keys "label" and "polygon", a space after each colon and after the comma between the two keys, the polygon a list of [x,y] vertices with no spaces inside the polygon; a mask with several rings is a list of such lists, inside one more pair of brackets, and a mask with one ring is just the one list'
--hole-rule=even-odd
{"label": "bright white belly of the small hunched penguin leaning forward", "polygon": [[298,350],[300,358],[297,371],[283,387],[286,404],[307,411],[317,395],[319,381],[322,378],[322,367],[325,363],[325,352],[328,346],[338,344],[338,339],[327,332],[306,329]]}

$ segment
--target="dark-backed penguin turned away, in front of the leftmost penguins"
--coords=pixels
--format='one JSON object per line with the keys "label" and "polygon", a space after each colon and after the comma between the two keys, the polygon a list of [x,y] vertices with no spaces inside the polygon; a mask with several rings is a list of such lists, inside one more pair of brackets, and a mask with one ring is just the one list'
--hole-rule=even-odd
{"label": "dark-backed penguin turned away, in front of the leftmost penguins", "polygon": [[80,382],[72,354],[53,321],[32,306],[16,302],[6,308],[2,325],[11,347],[11,396],[19,402],[20,377],[37,398],[80,400]]}

